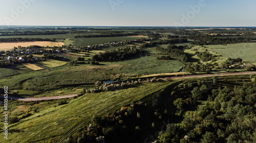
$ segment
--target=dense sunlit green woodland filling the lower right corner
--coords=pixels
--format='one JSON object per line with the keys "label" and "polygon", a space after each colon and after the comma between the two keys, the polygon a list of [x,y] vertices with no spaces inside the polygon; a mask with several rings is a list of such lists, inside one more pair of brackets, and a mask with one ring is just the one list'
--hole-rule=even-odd
{"label": "dense sunlit green woodland filling the lower right corner", "polygon": [[255,92],[255,82],[234,88],[195,87],[189,98],[177,98],[174,104],[179,110],[195,104],[193,100],[205,104],[184,112],[182,122],[167,125],[159,133],[159,142],[255,142]]}

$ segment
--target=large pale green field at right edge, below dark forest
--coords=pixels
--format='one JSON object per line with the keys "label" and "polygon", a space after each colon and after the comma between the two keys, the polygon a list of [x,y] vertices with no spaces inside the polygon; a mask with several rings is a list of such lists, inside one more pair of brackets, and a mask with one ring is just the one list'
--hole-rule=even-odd
{"label": "large pale green field at right edge, below dark forest", "polygon": [[217,52],[225,58],[241,58],[245,62],[256,62],[256,43],[240,43],[223,45],[207,45],[208,50]]}

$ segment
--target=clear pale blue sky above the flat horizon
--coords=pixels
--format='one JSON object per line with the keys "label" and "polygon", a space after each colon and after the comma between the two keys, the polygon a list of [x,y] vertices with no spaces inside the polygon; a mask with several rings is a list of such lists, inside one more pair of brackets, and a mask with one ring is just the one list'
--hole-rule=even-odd
{"label": "clear pale blue sky above the flat horizon", "polygon": [[255,0],[0,0],[0,25],[256,26]]}

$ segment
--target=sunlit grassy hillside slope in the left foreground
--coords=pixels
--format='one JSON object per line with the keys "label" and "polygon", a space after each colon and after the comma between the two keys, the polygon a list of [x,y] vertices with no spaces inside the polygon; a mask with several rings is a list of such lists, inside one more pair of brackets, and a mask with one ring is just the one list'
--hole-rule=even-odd
{"label": "sunlit grassy hillside slope in the left foreground", "polygon": [[[47,106],[33,116],[9,126],[8,142],[55,142],[80,122],[88,124],[92,115],[104,116],[133,101],[166,87],[166,82],[145,83],[129,89],[92,93],[68,102]],[[46,120],[47,119],[47,120]],[[0,135],[0,141],[6,142]]]}

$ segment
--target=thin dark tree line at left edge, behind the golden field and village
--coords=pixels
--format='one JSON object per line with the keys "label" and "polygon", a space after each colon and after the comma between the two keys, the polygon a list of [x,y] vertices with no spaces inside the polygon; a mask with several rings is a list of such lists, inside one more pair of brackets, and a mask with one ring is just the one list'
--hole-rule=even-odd
{"label": "thin dark tree line at left edge, behind the golden field and village", "polygon": [[22,41],[51,41],[55,42],[56,39],[49,39],[49,38],[0,38],[0,42],[22,42]]}

